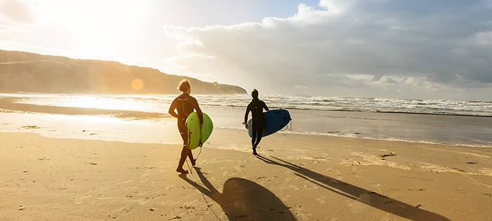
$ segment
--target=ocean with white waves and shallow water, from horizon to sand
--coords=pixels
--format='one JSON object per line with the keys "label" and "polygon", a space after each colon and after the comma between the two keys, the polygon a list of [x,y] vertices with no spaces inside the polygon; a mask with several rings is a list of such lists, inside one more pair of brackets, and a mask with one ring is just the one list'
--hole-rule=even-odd
{"label": "ocean with white waves and shallow water, from horizon to sand", "polygon": [[[167,114],[167,110],[176,96],[0,94],[0,98],[12,99],[15,103],[35,105],[35,107],[108,109],[116,110],[114,113],[140,113],[94,114],[91,112],[91,115],[103,119],[140,121],[149,124],[175,121]],[[245,107],[251,100],[250,95],[193,96],[197,98],[202,110],[211,116],[215,128],[244,130],[242,121],[244,121]],[[282,108],[290,112],[292,122],[280,133],[492,147],[492,102],[488,101],[308,95],[260,95],[260,99],[264,100],[270,109]],[[12,110],[0,109],[0,112],[6,113]],[[23,113],[22,110],[17,112]],[[31,111],[30,114],[36,113]]]}

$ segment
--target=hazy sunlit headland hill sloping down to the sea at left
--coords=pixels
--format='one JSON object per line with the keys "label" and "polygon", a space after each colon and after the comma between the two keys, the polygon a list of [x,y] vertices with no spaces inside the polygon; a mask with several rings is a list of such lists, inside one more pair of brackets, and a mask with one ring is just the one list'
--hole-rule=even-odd
{"label": "hazy sunlit headland hill sloping down to the sea at left", "polygon": [[176,94],[183,79],[190,81],[193,94],[246,93],[238,86],[164,74],[149,67],[0,50],[0,93]]}

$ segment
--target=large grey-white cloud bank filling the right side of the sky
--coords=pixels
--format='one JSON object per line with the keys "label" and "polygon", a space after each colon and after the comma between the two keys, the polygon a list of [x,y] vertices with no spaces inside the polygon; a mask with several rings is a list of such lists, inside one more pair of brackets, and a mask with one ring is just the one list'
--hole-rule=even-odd
{"label": "large grey-white cloud bank filling the right side of the sky", "polygon": [[261,23],[164,29],[181,41],[183,55],[194,55],[175,60],[188,74],[262,84],[269,93],[332,93],[330,86],[357,96],[399,87],[445,94],[492,85],[490,3],[322,0],[318,6],[300,4],[290,18]]}

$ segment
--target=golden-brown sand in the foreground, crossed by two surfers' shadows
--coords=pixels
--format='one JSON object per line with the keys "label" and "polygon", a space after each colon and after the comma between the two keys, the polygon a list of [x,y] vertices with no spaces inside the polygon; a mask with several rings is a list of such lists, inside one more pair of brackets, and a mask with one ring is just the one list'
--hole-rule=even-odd
{"label": "golden-brown sand in the foreground, crossed by two surfers' shadows", "polygon": [[0,133],[0,219],[492,220],[490,148],[290,133],[249,146],[216,128],[179,175],[180,145]]}

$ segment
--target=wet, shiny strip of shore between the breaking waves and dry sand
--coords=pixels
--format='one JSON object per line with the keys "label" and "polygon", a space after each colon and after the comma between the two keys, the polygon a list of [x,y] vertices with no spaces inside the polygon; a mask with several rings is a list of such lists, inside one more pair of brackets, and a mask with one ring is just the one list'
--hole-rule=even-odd
{"label": "wet, shiny strip of shore between the breaking waves and dry sand", "polygon": [[[17,104],[9,102],[12,98],[0,98],[0,118],[4,124],[0,124],[0,130],[16,131],[22,126],[36,125],[46,128],[43,135],[58,137],[60,134],[53,131],[67,130],[65,121],[71,125],[68,128],[77,134],[76,125],[84,127],[82,130],[98,130],[108,128],[110,138],[102,140],[124,140],[129,142],[156,142],[157,137],[162,137],[160,131],[172,131],[176,121],[165,111],[169,105],[160,102],[151,110],[157,112],[145,112],[124,109],[96,109],[86,107],[56,107],[49,105]],[[112,107],[116,108],[116,107]],[[148,109],[150,111],[150,109]],[[290,112],[292,131],[285,133],[335,135],[345,138],[368,138],[375,140],[403,140],[408,142],[423,142],[444,145],[466,145],[470,147],[492,148],[492,118],[479,116],[436,115],[436,114],[403,114],[384,112],[347,112],[347,111],[320,111],[306,109],[287,109]],[[202,105],[202,111],[206,112],[214,121],[215,128],[243,129],[241,124],[244,109],[238,107],[219,107]],[[10,113],[9,113],[10,112]],[[27,113],[29,112],[29,113]],[[42,113],[42,114],[39,114]],[[16,119],[29,116],[32,121],[20,125]],[[58,121],[59,123],[53,123]],[[91,123],[96,121],[108,122]],[[6,125],[5,123],[9,123]],[[109,123],[117,126],[111,126]],[[147,124],[145,126],[145,124]],[[45,125],[49,125],[49,128]],[[17,126],[17,128],[15,128]],[[131,127],[136,126],[139,130]],[[175,127],[175,126],[174,126]],[[118,136],[114,132],[122,131],[125,136]],[[150,128],[150,130],[145,130]],[[132,133],[129,133],[129,130]],[[96,132],[96,133],[98,133]],[[149,133],[145,135],[144,133]],[[132,134],[141,134],[141,138],[129,140]],[[64,133],[65,138],[72,138]],[[119,138],[121,137],[121,138]],[[171,139],[165,136],[164,140]],[[79,136],[76,138],[83,138]],[[95,138],[89,138],[95,139]],[[172,138],[174,140],[179,140]],[[174,142],[174,141],[173,141]],[[169,143],[169,142],[167,142]]]}

